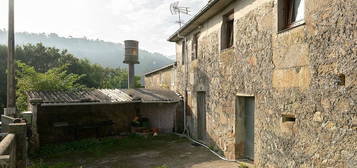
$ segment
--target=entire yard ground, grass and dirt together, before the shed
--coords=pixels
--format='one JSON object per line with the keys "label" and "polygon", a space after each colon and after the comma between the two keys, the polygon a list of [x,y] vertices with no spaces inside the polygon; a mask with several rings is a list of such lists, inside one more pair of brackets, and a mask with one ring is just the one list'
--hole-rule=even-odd
{"label": "entire yard ground, grass and dirt together, before the shed", "polygon": [[[125,141],[123,141],[125,140]],[[192,145],[183,137],[162,135],[158,138],[127,138],[109,149],[106,145],[89,147],[91,150],[71,150],[41,155],[31,168],[238,168],[240,164],[219,159],[208,149]],[[78,144],[88,144],[79,142]],[[110,143],[109,143],[110,144]],[[65,146],[73,146],[65,145]],[[76,146],[76,145],[74,145]],[[86,145],[85,145],[86,146]],[[60,146],[61,147],[61,146]],[[86,146],[87,148],[87,146]],[[51,151],[47,148],[46,151]],[[54,151],[58,151],[53,148]],[[49,166],[39,166],[38,163]],[[63,163],[70,163],[66,166]],[[62,166],[58,166],[58,164]],[[52,165],[52,166],[51,166]],[[56,166],[57,165],[57,166]]]}

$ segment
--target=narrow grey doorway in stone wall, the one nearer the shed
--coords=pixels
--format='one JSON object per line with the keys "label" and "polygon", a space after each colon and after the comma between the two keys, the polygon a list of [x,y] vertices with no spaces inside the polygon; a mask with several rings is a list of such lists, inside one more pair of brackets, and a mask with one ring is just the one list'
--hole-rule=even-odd
{"label": "narrow grey doorway in stone wall, the one nearer the shed", "polygon": [[197,138],[206,138],[206,92],[197,92]]}

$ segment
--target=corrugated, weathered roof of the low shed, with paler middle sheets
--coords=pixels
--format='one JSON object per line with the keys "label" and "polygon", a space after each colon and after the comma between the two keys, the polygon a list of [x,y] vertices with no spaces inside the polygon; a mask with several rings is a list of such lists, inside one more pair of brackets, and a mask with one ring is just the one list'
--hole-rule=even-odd
{"label": "corrugated, weathered roof of the low shed, with paler middle sheets", "polygon": [[180,97],[173,91],[154,89],[95,89],[84,91],[30,91],[31,104],[119,104],[119,103],[173,103]]}

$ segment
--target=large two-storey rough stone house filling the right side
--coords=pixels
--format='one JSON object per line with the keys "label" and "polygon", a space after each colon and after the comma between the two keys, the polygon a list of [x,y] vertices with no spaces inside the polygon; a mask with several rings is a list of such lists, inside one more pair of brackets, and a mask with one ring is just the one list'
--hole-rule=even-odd
{"label": "large two-storey rough stone house filling the right side", "polygon": [[357,167],[356,9],[210,1],[169,38],[188,133],[257,167]]}

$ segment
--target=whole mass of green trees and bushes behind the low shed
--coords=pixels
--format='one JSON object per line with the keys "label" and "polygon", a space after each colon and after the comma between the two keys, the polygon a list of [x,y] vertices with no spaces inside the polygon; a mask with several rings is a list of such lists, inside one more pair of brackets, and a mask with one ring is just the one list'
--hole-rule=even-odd
{"label": "whole mass of green trees and bushes behind the low shed", "polygon": [[[6,103],[7,47],[0,45],[0,108]],[[78,59],[67,50],[42,44],[16,48],[18,109],[26,110],[25,91],[73,90],[82,88],[127,88],[127,72],[120,68],[105,68],[88,60]],[[140,77],[136,77],[140,87]]]}

